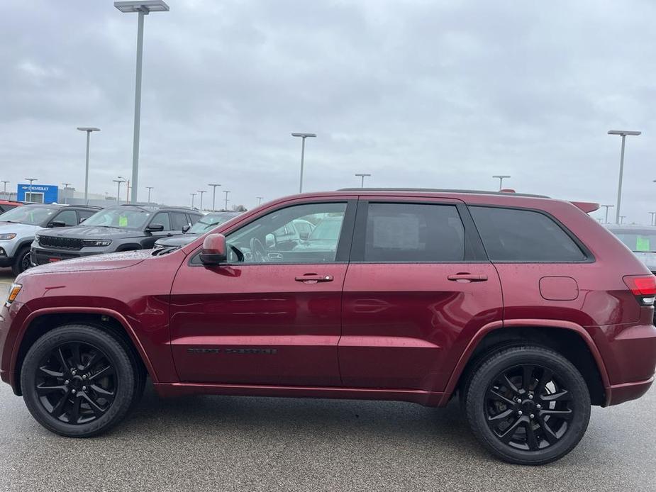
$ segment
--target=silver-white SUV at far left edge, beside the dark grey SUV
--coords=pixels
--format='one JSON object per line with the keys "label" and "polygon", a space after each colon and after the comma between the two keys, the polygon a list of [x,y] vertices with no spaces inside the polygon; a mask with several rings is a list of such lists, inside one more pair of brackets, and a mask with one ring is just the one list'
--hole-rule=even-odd
{"label": "silver-white SUV at far left edge, beside the dark grey SUV", "polygon": [[43,228],[78,225],[99,207],[70,205],[23,205],[0,215],[0,267],[18,275],[30,267],[30,245]]}

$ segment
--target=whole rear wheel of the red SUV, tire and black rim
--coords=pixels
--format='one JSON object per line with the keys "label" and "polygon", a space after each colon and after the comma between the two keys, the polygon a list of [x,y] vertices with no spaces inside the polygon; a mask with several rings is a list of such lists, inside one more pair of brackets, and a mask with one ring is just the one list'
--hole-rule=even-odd
{"label": "whole rear wheel of the red SUV, tire and black rim", "polygon": [[513,464],[564,457],[582,439],[590,419],[583,376],[565,357],[543,347],[511,347],[483,359],[461,402],[477,440]]}

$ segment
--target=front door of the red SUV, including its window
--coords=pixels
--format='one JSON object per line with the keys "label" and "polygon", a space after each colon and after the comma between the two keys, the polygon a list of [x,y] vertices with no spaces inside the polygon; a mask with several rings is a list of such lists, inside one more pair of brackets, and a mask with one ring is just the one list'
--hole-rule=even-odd
{"label": "front door of the red SUV, including its window", "polygon": [[[196,251],[171,293],[181,381],[338,386],[341,296],[355,201],[267,211],[226,231],[230,257],[204,267]],[[337,221],[321,240],[282,237],[293,220]]]}

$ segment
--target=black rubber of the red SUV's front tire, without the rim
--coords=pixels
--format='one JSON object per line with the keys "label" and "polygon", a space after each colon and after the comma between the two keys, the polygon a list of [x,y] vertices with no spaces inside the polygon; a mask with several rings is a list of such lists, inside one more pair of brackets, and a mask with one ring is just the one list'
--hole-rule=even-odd
{"label": "black rubber of the red SUV's front tire, without the rim", "polygon": [[[116,396],[111,407],[101,418],[86,424],[68,424],[52,417],[35,391],[39,362],[54,347],[67,342],[94,345],[106,354],[116,371]],[[135,396],[135,369],[126,350],[108,333],[87,325],[67,325],[46,333],[30,348],[23,361],[21,388],[28,410],[43,427],[67,437],[91,437],[109,430],[130,410]]]}

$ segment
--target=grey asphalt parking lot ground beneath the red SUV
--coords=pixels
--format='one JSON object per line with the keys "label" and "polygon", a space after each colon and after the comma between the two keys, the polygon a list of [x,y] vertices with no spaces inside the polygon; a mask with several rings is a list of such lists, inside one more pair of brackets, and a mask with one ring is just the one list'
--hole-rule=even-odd
{"label": "grey asphalt parking lot ground beneath the red SUV", "polygon": [[573,452],[527,467],[490,457],[455,401],[162,400],[149,385],[115,430],[72,440],[1,384],[0,491],[656,491],[655,409],[654,389],[594,407]]}

